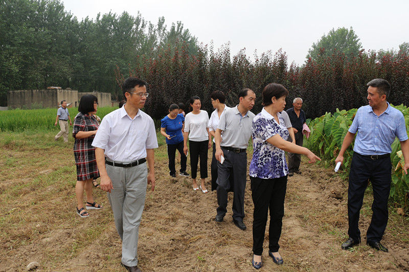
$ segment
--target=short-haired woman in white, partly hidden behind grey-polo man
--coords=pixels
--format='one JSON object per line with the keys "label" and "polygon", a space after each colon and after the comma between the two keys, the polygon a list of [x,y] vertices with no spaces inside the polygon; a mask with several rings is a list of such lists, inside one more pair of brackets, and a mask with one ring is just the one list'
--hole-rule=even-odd
{"label": "short-haired woman in white, partly hidden behind grey-polo man", "polygon": [[[226,97],[224,96],[224,93],[222,91],[214,91],[210,94],[210,99],[212,100],[212,105],[213,108],[215,109],[212,112],[212,115],[210,116],[209,119],[209,133],[210,135],[213,136],[213,156],[212,156],[212,163],[210,164],[210,174],[212,176],[212,191],[217,189],[217,160],[216,157],[214,156],[216,152],[216,146],[215,146],[215,141],[214,141],[214,136],[215,132],[217,129],[217,126],[219,125],[219,120],[221,114],[226,110],[229,109],[228,106],[224,104],[226,101]],[[231,179],[233,175],[230,175]],[[232,184],[233,185],[233,184]]]}

